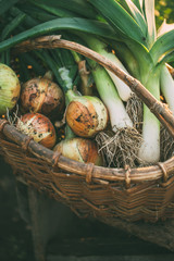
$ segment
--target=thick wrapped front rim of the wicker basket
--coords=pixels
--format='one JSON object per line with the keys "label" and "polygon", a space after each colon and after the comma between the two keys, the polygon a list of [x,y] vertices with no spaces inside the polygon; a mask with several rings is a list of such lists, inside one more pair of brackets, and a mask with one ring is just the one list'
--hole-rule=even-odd
{"label": "thick wrapped front rim of the wicker basket", "polygon": [[[4,119],[0,119],[0,133],[2,133],[8,140],[18,145],[24,152],[30,152],[33,156],[48,162],[53,167],[57,166],[65,172],[85,176],[86,181],[89,183],[91,179],[101,179],[103,182],[123,182],[125,183],[126,187],[128,187],[130,183],[138,184],[142,182],[157,181],[160,181],[160,183],[161,181],[166,183],[173,175],[174,157],[164,162],[158,162],[153,165],[138,166],[134,169],[130,169],[129,166],[97,166],[94,163],[83,163],[71,160],[51,149],[44,147],[42,145],[34,141],[30,136],[20,133],[15,126],[10,125],[10,123]],[[3,141],[9,142],[5,140]]]}

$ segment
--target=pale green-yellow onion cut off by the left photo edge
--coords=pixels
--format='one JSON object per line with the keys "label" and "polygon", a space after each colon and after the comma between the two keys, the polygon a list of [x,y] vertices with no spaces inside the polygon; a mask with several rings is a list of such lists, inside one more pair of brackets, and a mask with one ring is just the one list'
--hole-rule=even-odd
{"label": "pale green-yellow onion cut off by the left photo edge", "polygon": [[14,71],[0,63],[0,115],[11,111],[20,98],[21,85]]}

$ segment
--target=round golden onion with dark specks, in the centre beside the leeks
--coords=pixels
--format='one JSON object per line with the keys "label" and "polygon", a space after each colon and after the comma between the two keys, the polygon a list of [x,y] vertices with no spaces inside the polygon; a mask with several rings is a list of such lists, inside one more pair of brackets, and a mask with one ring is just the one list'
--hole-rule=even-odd
{"label": "round golden onion with dark specks, in the centre beside the leeks", "polygon": [[79,137],[94,137],[107,127],[108,120],[108,110],[97,97],[78,96],[66,109],[66,123]]}

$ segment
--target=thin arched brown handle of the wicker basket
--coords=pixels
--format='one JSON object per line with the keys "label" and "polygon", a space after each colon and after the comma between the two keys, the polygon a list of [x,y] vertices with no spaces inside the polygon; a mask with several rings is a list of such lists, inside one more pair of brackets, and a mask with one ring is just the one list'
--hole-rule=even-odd
{"label": "thin arched brown handle of the wicker basket", "polygon": [[169,133],[174,137],[174,116],[169,110],[167,105],[158,101],[146,87],[136,78],[127,75],[124,71],[119,69],[109,59],[102,57],[101,54],[92,51],[91,49],[82,46],[77,42],[60,39],[60,35],[44,36],[35,39],[28,39],[16,45],[13,49],[14,53],[26,52],[34,49],[40,48],[64,48],[69,50],[76,51],[84,57],[95,60],[103,67],[110,70],[120,79],[129,86],[129,88],[139,97],[142,102],[150,109],[150,111],[158,117],[158,120],[163,124],[163,126],[169,130]]}

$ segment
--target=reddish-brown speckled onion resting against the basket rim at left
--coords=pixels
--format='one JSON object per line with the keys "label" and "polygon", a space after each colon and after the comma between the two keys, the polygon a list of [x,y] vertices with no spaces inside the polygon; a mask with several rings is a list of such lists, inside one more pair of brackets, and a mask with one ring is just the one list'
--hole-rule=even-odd
{"label": "reddish-brown speckled onion resting against the basket rim at left", "polygon": [[34,140],[49,149],[57,141],[55,129],[51,121],[40,113],[26,113],[18,119],[16,128],[34,138]]}

